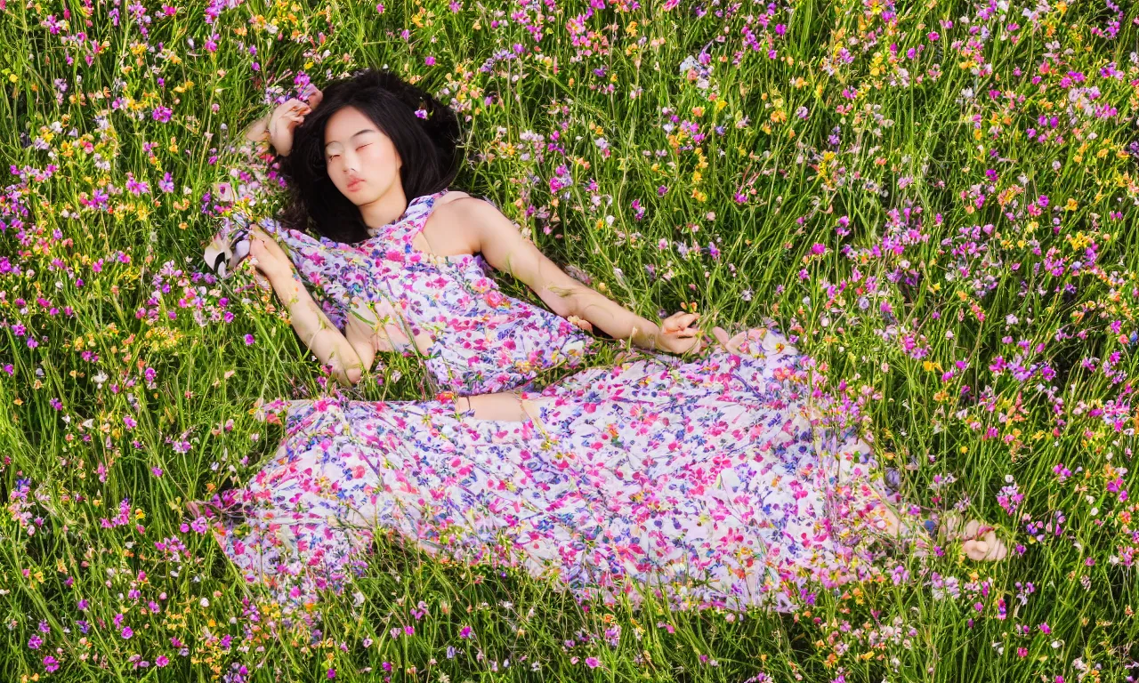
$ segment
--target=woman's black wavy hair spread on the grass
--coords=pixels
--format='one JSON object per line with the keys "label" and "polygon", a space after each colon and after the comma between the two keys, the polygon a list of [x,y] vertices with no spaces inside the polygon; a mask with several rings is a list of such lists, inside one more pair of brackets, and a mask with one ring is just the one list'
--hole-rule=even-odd
{"label": "woman's black wavy hair spread on the grass", "polygon": [[[403,162],[400,181],[409,201],[446,189],[462,156],[456,113],[394,73],[369,68],[328,83],[320,104],[293,132],[289,156],[277,158],[290,188],[281,222],[353,244],[369,237],[368,227],[359,207],[333,183],[325,162],[325,127],[344,107],[357,108],[391,138]],[[426,117],[416,116],[417,110]]]}

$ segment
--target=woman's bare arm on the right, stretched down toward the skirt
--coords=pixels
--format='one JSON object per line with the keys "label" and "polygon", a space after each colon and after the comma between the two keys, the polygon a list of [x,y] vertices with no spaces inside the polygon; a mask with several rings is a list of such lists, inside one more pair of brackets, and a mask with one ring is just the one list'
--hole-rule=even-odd
{"label": "woman's bare arm on the right, stretched down toward the skirt", "polygon": [[583,318],[611,337],[630,339],[642,348],[685,353],[698,344],[699,330],[690,327],[696,313],[677,313],[659,324],[646,320],[567,275],[489,201],[464,197],[446,206],[456,220],[470,227],[476,241],[473,250],[481,252],[494,269],[525,282],[558,315]]}

